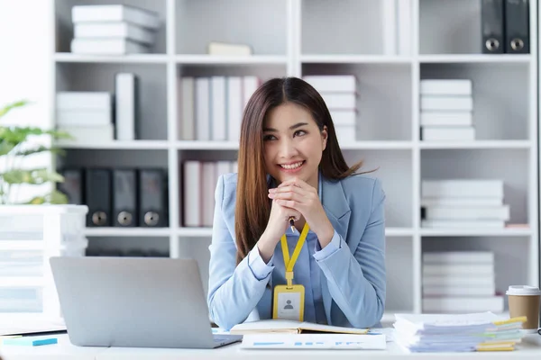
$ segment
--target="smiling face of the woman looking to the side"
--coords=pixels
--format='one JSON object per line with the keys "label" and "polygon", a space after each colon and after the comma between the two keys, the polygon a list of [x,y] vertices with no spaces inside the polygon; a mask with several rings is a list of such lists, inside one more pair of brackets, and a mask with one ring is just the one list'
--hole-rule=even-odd
{"label": "smiling face of the woman looking to the side", "polygon": [[319,130],[310,112],[302,106],[283,103],[272,109],[263,125],[267,173],[279,183],[297,176],[316,187],[326,139],[326,127]]}

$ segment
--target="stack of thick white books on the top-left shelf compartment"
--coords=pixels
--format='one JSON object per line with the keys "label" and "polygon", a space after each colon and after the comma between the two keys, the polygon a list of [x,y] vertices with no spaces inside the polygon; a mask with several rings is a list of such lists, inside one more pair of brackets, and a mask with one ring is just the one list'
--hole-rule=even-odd
{"label": "stack of thick white books on the top-left shelf compartment", "polygon": [[147,53],[160,27],[158,14],[125,4],[73,6],[71,20],[78,54]]}

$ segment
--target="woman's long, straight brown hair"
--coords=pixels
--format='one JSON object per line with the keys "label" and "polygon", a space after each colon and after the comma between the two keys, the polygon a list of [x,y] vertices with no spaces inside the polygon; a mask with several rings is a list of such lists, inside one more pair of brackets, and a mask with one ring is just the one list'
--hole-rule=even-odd
{"label": "woman's long, straight brown hair", "polygon": [[272,78],[261,85],[246,104],[241,124],[238,182],[234,213],[237,264],[240,263],[267,227],[271,202],[267,196],[267,172],[263,157],[263,123],[267,114],[282,103],[296,103],[312,114],[319,130],[327,128],[328,138],[319,171],[331,180],[353,175],[354,166],[345,162],[336,139],[335,125],[326,103],[316,89],[298,77]]}

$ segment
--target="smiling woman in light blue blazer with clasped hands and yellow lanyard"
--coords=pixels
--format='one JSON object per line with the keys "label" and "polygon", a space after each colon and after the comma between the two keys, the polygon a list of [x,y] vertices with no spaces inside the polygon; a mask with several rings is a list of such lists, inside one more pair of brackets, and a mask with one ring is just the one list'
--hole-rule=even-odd
{"label": "smiling woman in light blue blazer with clasped hands and yellow lanyard", "polygon": [[[238,175],[221,176],[215,190],[207,302],[218,326],[298,316],[354,328],[379,323],[385,193],[379,180],[354,175],[360,166],[346,165],[326,104],[305,81],[274,78],[252,95]],[[288,281],[286,266],[298,242]],[[303,296],[273,295],[275,286],[291,283],[304,288]],[[304,310],[288,317],[291,301]]]}

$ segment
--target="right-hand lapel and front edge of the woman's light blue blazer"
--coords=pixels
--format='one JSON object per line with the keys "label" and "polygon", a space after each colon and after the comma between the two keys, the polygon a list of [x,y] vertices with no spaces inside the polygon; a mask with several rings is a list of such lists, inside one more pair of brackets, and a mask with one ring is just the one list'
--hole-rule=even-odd
{"label": "right-hand lapel and front edge of the woman's light blue blazer", "polygon": [[[344,238],[347,238],[347,228],[350,220],[351,209],[345,198],[344,189],[340,181],[327,180],[323,176],[319,176],[321,182],[321,203],[326,212],[327,218],[333,224],[336,232]],[[321,293],[323,297],[323,306],[325,307],[327,324],[331,322],[331,307],[333,299],[326,279],[322,278]]]}

